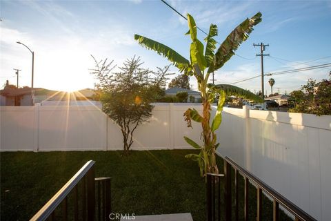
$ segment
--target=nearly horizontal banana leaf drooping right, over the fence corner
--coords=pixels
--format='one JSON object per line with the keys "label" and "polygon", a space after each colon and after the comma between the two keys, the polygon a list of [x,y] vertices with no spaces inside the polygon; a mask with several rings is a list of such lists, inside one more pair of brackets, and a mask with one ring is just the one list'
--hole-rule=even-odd
{"label": "nearly horizontal banana leaf drooping right, over the fence corner", "polygon": [[244,99],[251,99],[255,102],[263,102],[263,99],[261,97],[259,97],[258,95],[254,95],[254,93],[250,92],[249,90],[245,90],[243,88],[239,88],[230,84],[208,84],[208,88],[210,88],[210,90],[223,90],[228,96],[234,95],[237,97],[242,97]]}

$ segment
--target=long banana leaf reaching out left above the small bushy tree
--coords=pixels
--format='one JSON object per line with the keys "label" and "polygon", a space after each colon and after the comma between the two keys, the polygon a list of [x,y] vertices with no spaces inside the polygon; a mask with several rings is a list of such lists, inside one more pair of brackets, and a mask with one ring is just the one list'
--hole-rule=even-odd
{"label": "long banana leaf reaching out left above the small bushy tree", "polygon": [[179,53],[172,48],[169,48],[164,44],[161,44],[147,37],[143,37],[141,35],[134,35],[134,39],[137,40],[142,46],[145,46],[150,50],[154,50],[159,55],[163,55],[163,57],[168,58],[168,60],[171,61],[174,66],[179,68],[181,72],[184,71],[185,73],[188,73],[190,72],[190,70],[192,70],[192,68],[190,68],[190,61],[188,61],[188,59],[185,59],[185,57],[179,55]]}

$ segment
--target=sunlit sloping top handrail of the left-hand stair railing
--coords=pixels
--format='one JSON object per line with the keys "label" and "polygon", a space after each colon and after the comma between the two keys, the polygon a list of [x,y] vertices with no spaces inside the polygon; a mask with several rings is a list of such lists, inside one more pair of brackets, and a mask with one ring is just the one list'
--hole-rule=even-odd
{"label": "sunlit sloping top handrail of the left-hand stair railing", "polygon": [[[66,199],[78,182],[93,168],[90,160],[36,213],[30,220],[46,220],[59,204]],[[94,179],[94,177],[93,177]]]}

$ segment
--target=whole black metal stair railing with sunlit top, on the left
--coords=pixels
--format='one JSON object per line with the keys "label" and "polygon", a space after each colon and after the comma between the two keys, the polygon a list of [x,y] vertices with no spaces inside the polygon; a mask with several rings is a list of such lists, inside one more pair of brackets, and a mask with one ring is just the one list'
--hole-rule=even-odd
{"label": "whole black metal stair railing with sunlit top, on the left", "polygon": [[110,177],[94,178],[94,163],[86,162],[30,220],[106,220],[111,211]]}

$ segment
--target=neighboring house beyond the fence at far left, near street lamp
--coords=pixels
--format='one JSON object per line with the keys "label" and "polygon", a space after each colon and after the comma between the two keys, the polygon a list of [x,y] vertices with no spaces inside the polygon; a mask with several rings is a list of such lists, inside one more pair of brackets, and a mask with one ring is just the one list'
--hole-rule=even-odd
{"label": "neighboring house beyond the fence at far left, near street lamp", "polygon": [[6,82],[5,88],[0,90],[1,106],[32,106],[31,88],[12,88],[9,82]]}

